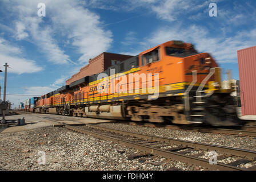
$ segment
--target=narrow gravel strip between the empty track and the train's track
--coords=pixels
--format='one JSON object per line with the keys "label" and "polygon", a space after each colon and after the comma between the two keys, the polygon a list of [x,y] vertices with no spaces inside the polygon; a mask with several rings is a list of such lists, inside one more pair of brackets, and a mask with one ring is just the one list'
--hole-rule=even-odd
{"label": "narrow gravel strip between the empty track and the train's track", "polygon": [[157,127],[133,126],[124,123],[101,123],[98,126],[110,127],[112,129],[130,131],[134,133],[142,133],[155,135],[159,137],[168,137],[180,140],[188,140],[191,142],[201,142],[207,144],[215,144],[218,146],[242,148],[245,150],[256,151],[255,137],[239,137],[237,135],[201,133],[186,130],[161,129]]}

